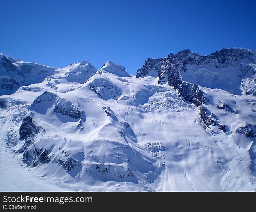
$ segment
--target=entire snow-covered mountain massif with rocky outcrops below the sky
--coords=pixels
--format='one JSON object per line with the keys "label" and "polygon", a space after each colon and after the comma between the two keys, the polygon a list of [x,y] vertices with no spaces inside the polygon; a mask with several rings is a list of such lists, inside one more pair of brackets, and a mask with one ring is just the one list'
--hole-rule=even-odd
{"label": "entire snow-covered mountain massif with rocky outcrops below the sky", "polygon": [[256,54],[189,50],[136,77],[0,54],[1,191],[256,191]]}

